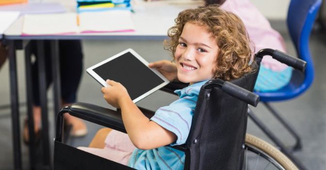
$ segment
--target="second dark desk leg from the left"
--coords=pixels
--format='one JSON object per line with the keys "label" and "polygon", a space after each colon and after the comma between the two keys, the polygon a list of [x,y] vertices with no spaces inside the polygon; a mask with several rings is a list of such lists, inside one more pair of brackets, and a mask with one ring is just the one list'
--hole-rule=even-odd
{"label": "second dark desk leg from the left", "polygon": [[[33,115],[33,83],[32,83],[32,63],[31,63],[31,43],[25,47],[25,69],[26,69],[26,91],[27,91],[27,115],[28,129],[34,129]],[[29,149],[30,149],[30,169],[35,170],[35,134],[33,130],[29,131]]]}

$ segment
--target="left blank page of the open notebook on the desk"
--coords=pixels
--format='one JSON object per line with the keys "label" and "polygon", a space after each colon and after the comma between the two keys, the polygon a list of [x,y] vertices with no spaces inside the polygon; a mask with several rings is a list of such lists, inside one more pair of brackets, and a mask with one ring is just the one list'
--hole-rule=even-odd
{"label": "left blank page of the open notebook on the desk", "polygon": [[78,33],[77,14],[25,15],[22,34],[53,35]]}

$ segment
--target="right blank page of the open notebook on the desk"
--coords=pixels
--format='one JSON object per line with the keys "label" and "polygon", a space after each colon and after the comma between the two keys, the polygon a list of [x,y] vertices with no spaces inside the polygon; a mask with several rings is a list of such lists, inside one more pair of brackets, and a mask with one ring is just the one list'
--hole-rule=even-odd
{"label": "right blank page of the open notebook on the desk", "polygon": [[82,12],[79,14],[80,32],[119,32],[135,30],[129,10]]}

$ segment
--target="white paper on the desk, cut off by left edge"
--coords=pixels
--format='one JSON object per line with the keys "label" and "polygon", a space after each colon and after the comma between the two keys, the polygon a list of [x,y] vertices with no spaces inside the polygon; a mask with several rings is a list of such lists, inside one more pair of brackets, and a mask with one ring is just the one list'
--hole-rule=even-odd
{"label": "white paper on the desk, cut off by left edge", "polygon": [[19,12],[0,11],[0,34],[3,34],[10,27],[10,25],[16,21],[18,17],[19,17]]}

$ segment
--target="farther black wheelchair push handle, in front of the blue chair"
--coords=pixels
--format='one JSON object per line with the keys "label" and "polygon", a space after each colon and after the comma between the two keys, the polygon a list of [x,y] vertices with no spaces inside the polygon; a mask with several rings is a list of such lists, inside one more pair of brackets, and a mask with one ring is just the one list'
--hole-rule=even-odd
{"label": "farther black wheelchair push handle, in front of the blue chair", "polygon": [[256,53],[256,57],[259,57],[259,58],[262,58],[265,55],[270,55],[277,61],[284,63],[288,66],[291,66],[294,69],[298,69],[302,72],[304,72],[307,67],[307,62],[305,62],[299,58],[295,58],[295,57],[293,57],[285,52],[279,51],[279,50],[263,49]]}

